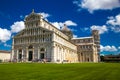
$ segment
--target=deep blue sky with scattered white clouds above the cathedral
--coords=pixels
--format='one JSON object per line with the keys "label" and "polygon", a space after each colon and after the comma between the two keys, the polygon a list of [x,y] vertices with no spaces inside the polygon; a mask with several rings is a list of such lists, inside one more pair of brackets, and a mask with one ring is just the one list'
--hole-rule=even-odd
{"label": "deep blue sky with scattered white clouds above the cathedral", "polygon": [[32,9],[57,28],[64,23],[74,37],[101,36],[101,54],[120,53],[120,0],[1,0],[0,50],[11,50],[12,36],[24,29]]}

